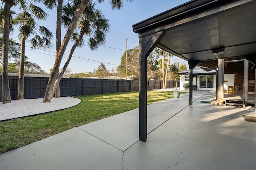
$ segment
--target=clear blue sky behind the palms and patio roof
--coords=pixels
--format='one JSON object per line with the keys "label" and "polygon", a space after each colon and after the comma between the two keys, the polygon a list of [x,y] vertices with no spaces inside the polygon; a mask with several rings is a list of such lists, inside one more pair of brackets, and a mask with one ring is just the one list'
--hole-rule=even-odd
{"label": "clear blue sky behind the palms and patio roof", "polygon": [[[64,0],[64,3],[65,2],[67,2],[67,0]],[[126,50],[126,38],[128,39],[128,49],[133,49],[139,44],[138,34],[133,32],[132,25],[184,4],[188,2],[188,0],[133,0],[133,2],[123,0],[123,7],[120,10],[112,10],[108,2],[108,0],[105,0],[104,3],[97,5],[110,23],[110,31],[106,34],[106,44],[94,51],[88,47],[88,43],[85,43],[82,48],[77,47],[68,65],[68,68],[70,68],[73,73],[92,72],[100,65],[100,62],[105,64],[110,72],[113,69],[116,70],[117,66],[120,65],[121,56]],[[30,43],[26,42],[25,55],[29,58],[28,61],[36,63],[42,70],[50,72],[50,68],[54,66],[56,49],[56,8],[46,10],[45,7],[41,7],[49,16],[47,21],[38,21],[37,23],[38,25],[47,27],[54,33],[54,38],[52,39],[54,47],[50,50],[31,50]],[[18,6],[12,7],[11,10],[17,11]],[[16,30],[17,29],[18,27]],[[66,30],[62,29],[62,40],[65,34]],[[14,33],[10,35],[10,38],[19,42],[17,35],[18,31],[14,31]],[[88,37],[84,37],[84,40],[88,42]],[[60,67],[64,66],[72,45],[73,42],[70,41]],[[180,63],[184,62],[188,68],[187,61],[176,56],[171,58],[170,63],[172,64],[174,61]]]}

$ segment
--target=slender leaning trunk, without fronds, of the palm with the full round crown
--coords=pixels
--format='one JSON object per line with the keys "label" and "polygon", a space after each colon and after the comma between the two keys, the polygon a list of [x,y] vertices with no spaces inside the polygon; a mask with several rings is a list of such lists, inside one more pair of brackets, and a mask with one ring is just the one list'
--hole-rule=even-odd
{"label": "slender leaning trunk, without fronds, of the palm with the full round crown", "polygon": [[66,63],[64,64],[64,66],[63,66],[63,68],[62,68],[60,74],[58,75],[58,78],[57,78],[57,79],[55,80],[55,82],[54,82],[54,87],[53,87],[53,90],[52,90],[52,97],[53,97],[53,95],[54,95],[54,92],[55,92],[56,88],[58,87],[58,84],[60,84],[60,80],[61,80],[61,78],[62,78],[64,72],[65,72],[66,69],[68,68],[68,64],[69,64],[69,62],[70,62],[70,60],[71,60],[71,58],[72,58],[72,55],[73,55],[73,53],[74,53],[76,47],[78,46],[78,43],[81,41],[80,39],[82,39],[82,37],[83,37],[83,34],[80,34],[79,37],[76,39],[76,42],[75,42],[74,45],[72,46],[72,48],[71,48],[71,50],[70,50],[70,53],[68,54],[68,59],[67,59]]}

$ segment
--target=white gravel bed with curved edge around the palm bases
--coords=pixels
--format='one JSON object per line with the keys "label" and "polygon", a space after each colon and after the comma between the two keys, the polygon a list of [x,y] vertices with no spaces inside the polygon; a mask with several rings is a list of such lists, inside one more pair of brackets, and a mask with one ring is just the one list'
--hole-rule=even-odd
{"label": "white gravel bed with curved edge around the palm bases", "polygon": [[80,102],[73,97],[52,98],[50,103],[43,103],[43,98],[12,100],[9,104],[0,102],[0,121],[66,109]]}

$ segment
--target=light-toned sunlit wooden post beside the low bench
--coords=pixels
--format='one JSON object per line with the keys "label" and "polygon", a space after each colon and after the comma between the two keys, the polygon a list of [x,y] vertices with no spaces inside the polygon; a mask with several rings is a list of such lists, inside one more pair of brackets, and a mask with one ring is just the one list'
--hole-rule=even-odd
{"label": "light-toned sunlit wooden post beside the low bench", "polygon": [[224,90],[224,59],[218,59],[218,104],[223,104],[223,90]]}

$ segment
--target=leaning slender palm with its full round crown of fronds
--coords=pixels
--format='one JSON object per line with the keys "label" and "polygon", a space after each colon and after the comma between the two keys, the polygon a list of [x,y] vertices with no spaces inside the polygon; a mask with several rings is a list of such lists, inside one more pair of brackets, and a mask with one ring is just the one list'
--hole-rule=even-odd
{"label": "leaning slender palm with its full round crown of fronds", "polygon": [[[83,46],[83,36],[87,35],[89,38],[88,46],[90,49],[98,49],[99,45],[104,45],[106,40],[106,33],[109,31],[110,25],[108,20],[104,18],[104,15],[99,9],[95,9],[95,3],[89,2],[84,10],[84,13],[81,15],[80,19],[78,20],[77,27],[80,29],[80,33],[77,32],[73,33],[72,39],[75,40],[74,45],[72,46],[70,53],[68,55],[68,59],[64,64],[58,78],[54,82],[54,88],[52,91],[52,97],[54,92],[66,70],[68,64],[71,60],[71,57],[76,49],[76,47]],[[69,25],[70,16],[72,16],[72,12],[70,13],[70,4],[67,4],[63,8],[64,16],[62,17],[62,21],[64,25]]]}

